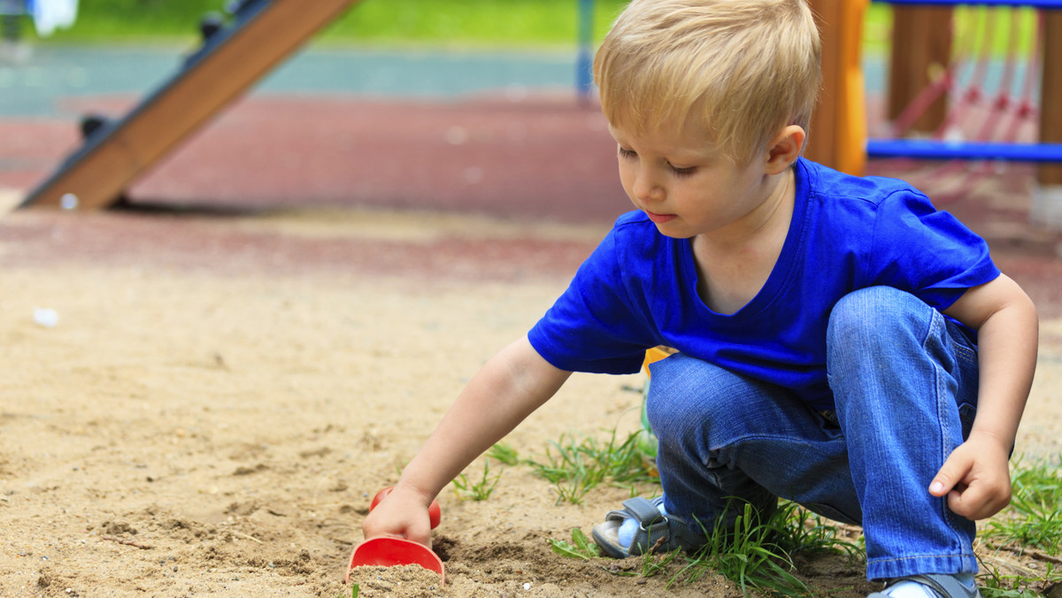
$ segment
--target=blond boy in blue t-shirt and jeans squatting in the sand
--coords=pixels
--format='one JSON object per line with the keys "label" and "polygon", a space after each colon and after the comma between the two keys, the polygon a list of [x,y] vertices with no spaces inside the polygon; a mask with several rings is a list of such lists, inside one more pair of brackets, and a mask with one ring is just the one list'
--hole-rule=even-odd
{"label": "blond boy in blue t-shirt and jeans squatting in the sand", "polygon": [[[430,545],[427,506],[572,371],[653,364],[663,496],[594,530],[692,549],[731,497],[859,524],[892,598],[976,596],[974,519],[1010,499],[1037,314],[986,243],[897,181],[800,157],[820,85],[804,0],[634,0],[595,79],[637,210],[461,393],[366,537]],[[827,116],[828,118],[828,116]]]}

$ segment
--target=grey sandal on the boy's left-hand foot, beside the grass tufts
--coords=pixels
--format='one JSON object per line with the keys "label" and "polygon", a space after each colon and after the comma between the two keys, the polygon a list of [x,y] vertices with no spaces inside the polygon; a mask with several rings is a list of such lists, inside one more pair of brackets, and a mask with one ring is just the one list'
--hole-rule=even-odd
{"label": "grey sandal on the boy's left-hand foot, beside the grass tufts", "polygon": [[[626,559],[646,552],[668,552],[675,548],[696,550],[704,546],[708,539],[701,530],[695,531],[682,519],[672,515],[662,515],[657,506],[664,497],[652,500],[630,498],[623,501],[622,511],[609,511],[604,523],[598,524],[592,533],[601,551],[613,559]],[[638,530],[629,547],[619,543],[619,527],[627,519],[638,522]]]}

